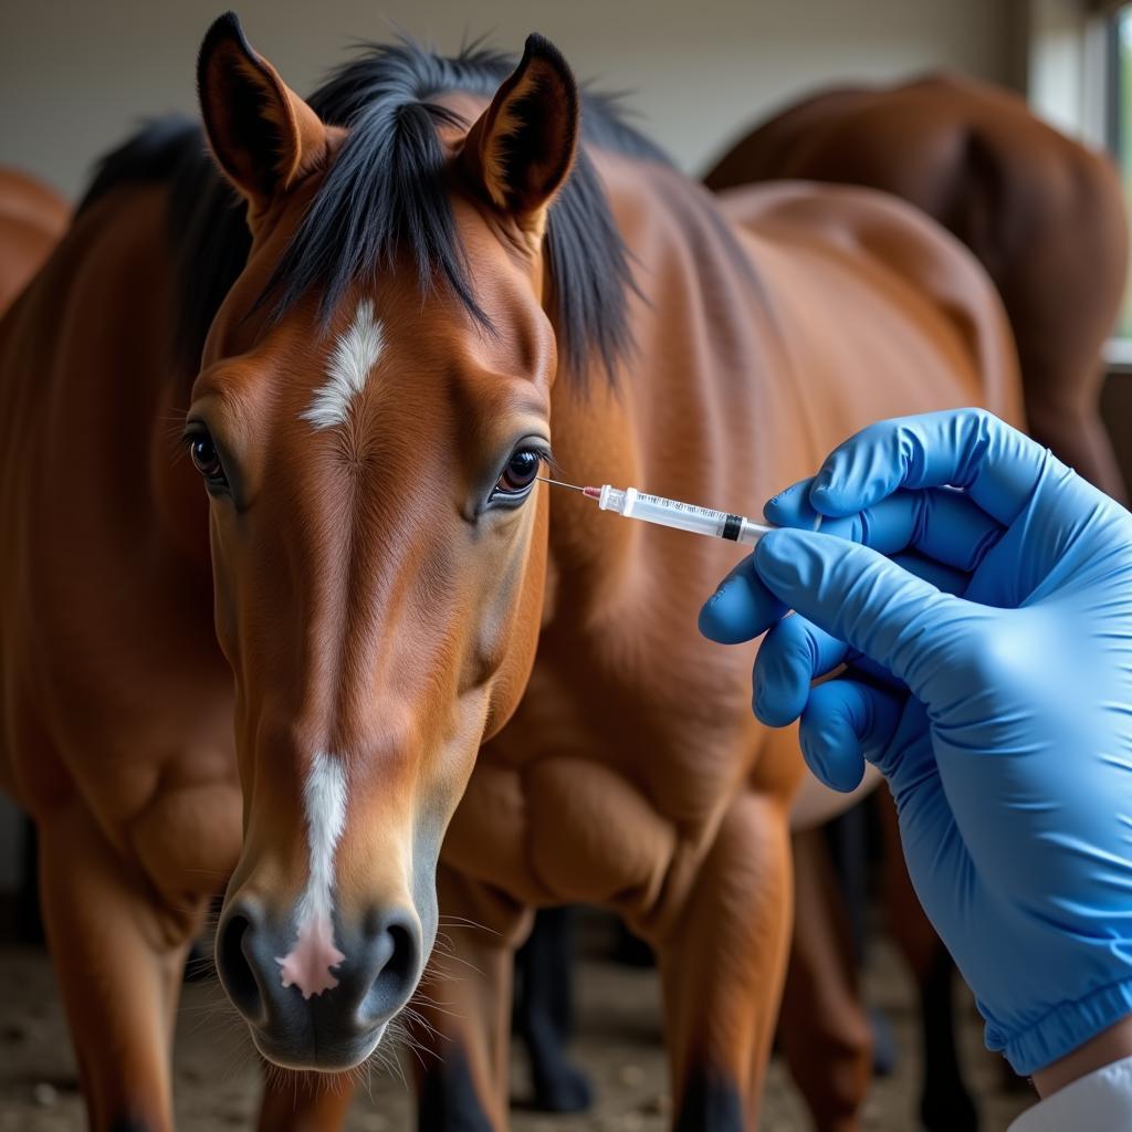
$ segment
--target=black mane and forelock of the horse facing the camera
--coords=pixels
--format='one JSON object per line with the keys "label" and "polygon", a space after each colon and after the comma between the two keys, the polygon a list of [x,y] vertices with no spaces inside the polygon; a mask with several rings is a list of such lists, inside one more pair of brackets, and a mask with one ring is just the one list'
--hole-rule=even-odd
{"label": "black mane and forelock of the horse facing the camera", "polygon": [[[278,318],[319,291],[328,316],[351,285],[403,252],[422,288],[447,286],[488,326],[443,182],[437,128],[456,118],[429,98],[447,91],[491,95],[515,61],[478,48],[445,58],[411,42],[367,44],[363,51],[309,100],[325,122],[350,132],[260,302],[269,302]],[[552,299],[566,370],[581,377],[595,355],[612,378],[632,344],[626,295],[634,283],[585,146],[668,158],[620,119],[612,98],[591,92],[582,97],[582,142],[547,223]],[[171,182],[175,345],[195,370],[216,310],[247,261],[245,207],[216,171],[199,127],[186,119],[153,122],[103,158],[79,212],[126,181]]]}

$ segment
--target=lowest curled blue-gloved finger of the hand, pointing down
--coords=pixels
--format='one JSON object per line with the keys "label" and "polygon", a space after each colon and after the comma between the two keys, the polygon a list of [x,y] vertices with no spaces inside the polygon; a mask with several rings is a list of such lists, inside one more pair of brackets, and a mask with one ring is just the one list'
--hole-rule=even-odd
{"label": "lowest curled blue-gloved finger of the hand, pointing down", "polygon": [[848,792],[865,773],[866,757],[887,748],[903,698],[859,680],[820,684],[809,695],[798,739],[806,765],[830,789]]}

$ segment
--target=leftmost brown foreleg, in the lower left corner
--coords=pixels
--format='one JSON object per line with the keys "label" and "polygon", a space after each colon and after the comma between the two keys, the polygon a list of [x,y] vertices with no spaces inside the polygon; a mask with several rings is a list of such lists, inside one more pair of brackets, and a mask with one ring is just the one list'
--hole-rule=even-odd
{"label": "leftmost brown foreleg, in the lower left corner", "polygon": [[40,890],[93,1132],[171,1132],[173,1017],[207,898],[170,908],[72,801],[40,821]]}

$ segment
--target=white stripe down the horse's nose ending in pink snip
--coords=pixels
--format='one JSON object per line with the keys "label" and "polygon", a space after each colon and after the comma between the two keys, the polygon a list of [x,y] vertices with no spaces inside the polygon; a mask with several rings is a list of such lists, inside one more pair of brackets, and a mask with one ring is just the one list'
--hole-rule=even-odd
{"label": "white stripe down the horse's nose ending in pink snip", "polygon": [[307,815],[310,871],[297,910],[298,937],[275,962],[283,986],[295,986],[303,998],[336,987],[331,974],[346,957],[334,945],[334,851],[346,817],[346,777],[340,760],[316,752],[302,791]]}

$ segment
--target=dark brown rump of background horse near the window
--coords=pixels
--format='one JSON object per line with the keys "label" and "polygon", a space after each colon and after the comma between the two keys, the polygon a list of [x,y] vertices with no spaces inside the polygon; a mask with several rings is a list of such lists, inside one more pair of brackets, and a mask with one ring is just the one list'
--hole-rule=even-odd
{"label": "dark brown rump of background horse near the window", "polygon": [[1124,194],[1107,155],[1010,91],[932,75],[805,98],[736,143],[704,183],[799,178],[893,192],[959,237],[1010,317],[1031,435],[1126,498],[1098,414],[1100,352],[1129,267]]}

